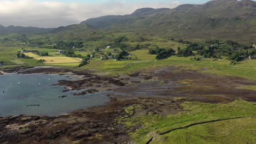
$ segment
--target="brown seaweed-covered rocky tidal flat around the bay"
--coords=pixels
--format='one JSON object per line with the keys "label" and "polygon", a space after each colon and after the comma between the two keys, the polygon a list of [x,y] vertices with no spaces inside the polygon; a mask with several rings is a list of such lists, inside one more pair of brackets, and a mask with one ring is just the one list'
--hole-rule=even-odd
{"label": "brown seaweed-covered rocky tidal flat around the bay", "polygon": [[[141,127],[127,128],[119,123],[120,119],[146,116],[149,113],[162,117],[175,115],[184,111],[181,104],[186,102],[228,104],[238,99],[256,101],[256,92],[237,88],[241,85],[255,85],[255,82],[238,77],[196,73],[193,70],[175,67],[152,68],[119,77],[106,77],[96,75],[92,71],[59,68],[51,68],[51,71],[47,68],[28,69],[28,71],[23,69],[17,73],[29,74],[42,71],[46,74],[56,74],[56,71],[61,71],[61,74],[63,71],[78,74],[83,78],[61,80],[56,85],[70,89],[94,88],[98,92],[108,90],[111,93],[106,96],[110,101],[100,106],[74,110],[66,115],[54,117],[21,115],[0,118],[0,131],[14,134],[4,136],[3,142],[15,143],[17,137],[23,143],[30,141],[38,143],[131,142],[129,133]],[[218,80],[222,82],[219,83]],[[127,114],[127,107],[135,108]],[[70,142],[66,142],[66,139]]]}

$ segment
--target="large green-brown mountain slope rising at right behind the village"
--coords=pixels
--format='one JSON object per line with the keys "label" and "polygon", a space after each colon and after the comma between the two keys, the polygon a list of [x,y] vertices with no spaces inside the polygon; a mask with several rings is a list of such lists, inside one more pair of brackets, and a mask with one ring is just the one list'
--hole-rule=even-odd
{"label": "large green-brown mountain slope rising at right behind the village", "polygon": [[102,16],[83,21],[96,28],[144,32],[177,38],[256,38],[256,2],[218,0],[174,9],[138,9],[130,15]]}

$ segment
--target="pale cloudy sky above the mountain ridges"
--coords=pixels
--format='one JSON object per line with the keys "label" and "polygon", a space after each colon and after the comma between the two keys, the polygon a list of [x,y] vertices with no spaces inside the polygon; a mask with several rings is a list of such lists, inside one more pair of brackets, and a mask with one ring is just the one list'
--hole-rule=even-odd
{"label": "pale cloudy sky above the mountain ridges", "polygon": [[104,15],[131,14],[138,8],[174,8],[181,2],[107,1],[62,3],[36,0],[0,0],[0,24],[4,26],[59,27]]}

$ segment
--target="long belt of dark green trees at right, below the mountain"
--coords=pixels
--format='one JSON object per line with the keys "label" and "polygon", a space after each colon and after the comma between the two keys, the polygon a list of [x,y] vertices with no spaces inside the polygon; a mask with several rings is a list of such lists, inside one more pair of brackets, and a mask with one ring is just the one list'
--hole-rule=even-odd
{"label": "long belt of dark green trees at right, below the mountain", "polygon": [[214,39],[201,43],[193,43],[182,39],[175,41],[187,44],[185,49],[179,50],[177,56],[193,56],[193,51],[197,51],[197,55],[205,58],[221,58],[220,56],[227,56],[230,60],[236,62],[242,61],[250,55],[256,56],[256,50],[253,49],[252,44],[240,44],[232,40],[220,42],[220,40]]}

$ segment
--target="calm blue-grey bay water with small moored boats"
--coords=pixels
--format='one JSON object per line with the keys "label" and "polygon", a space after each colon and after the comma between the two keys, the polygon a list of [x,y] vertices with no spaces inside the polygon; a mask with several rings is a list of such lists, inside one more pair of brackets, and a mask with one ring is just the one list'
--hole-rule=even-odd
{"label": "calm blue-grey bay water with small moored boats", "polygon": [[[73,93],[77,91],[63,93],[64,87],[52,86],[63,79],[68,78],[40,74],[0,75],[0,116],[63,115],[73,110],[102,105],[109,100],[107,92],[74,96]],[[59,98],[61,95],[68,97]],[[35,104],[40,106],[26,106]]]}

